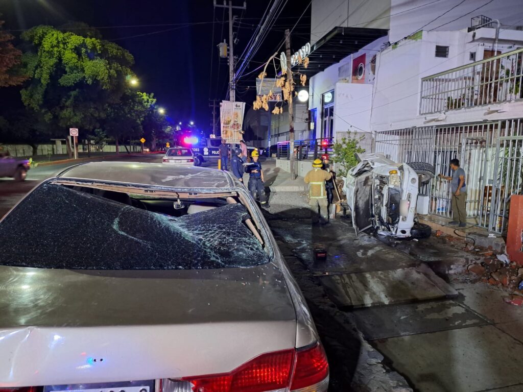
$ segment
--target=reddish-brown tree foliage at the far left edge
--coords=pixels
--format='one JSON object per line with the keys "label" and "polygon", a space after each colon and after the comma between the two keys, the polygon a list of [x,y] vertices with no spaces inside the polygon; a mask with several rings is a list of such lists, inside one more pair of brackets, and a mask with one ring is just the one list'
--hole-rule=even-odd
{"label": "reddish-brown tree foliage at the far left edge", "polygon": [[27,76],[21,73],[19,67],[22,52],[11,42],[15,37],[2,31],[4,23],[0,20],[0,87],[16,86],[24,82]]}

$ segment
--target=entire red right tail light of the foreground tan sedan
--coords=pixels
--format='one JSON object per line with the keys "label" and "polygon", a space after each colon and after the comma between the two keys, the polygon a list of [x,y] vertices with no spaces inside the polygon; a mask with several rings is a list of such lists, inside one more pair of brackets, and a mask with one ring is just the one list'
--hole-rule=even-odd
{"label": "entire red right tail light of the foreground tan sedan", "polygon": [[[328,363],[322,345],[316,343],[302,350],[260,355],[231,373],[184,377],[181,381],[190,383],[194,392],[266,392],[289,390],[289,386],[291,391],[325,392]],[[175,392],[171,390],[174,385],[167,384],[162,392]]]}

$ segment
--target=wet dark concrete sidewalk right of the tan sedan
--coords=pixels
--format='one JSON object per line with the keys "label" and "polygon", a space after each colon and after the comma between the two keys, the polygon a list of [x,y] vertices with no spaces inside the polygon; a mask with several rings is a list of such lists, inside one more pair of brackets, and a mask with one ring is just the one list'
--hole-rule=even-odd
{"label": "wet dark concrete sidewalk right of the tan sedan", "polygon": [[[397,373],[383,371],[382,367],[382,389],[370,387],[369,381],[367,390],[395,390],[392,384],[384,385],[400,374],[422,392],[523,391],[523,307],[504,301],[510,294],[507,289],[483,283],[479,276],[467,272],[467,265],[479,256],[464,252],[464,241],[456,239],[449,244],[435,236],[419,241],[356,236],[350,217],[311,227],[309,214],[301,207],[305,201],[306,195],[287,192],[281,202],[279,198],[271,201],[267,220],[280,248],[286,249],[294,274],[301,274],[298,281],[316,284],[312,296],[302,290],[334,363],[333,379],[340,377],[339,366],[352,366],[348,363],[350,356],[368,361],[368,352],[339,349],[342,332],[333,328],[354,320],[365,339],[384,357],[380,360],[381,354],[375,356],[368,366],[355,365],[351,381],[354,390],[362,390],[356,385],[376,369],[374,366],[384,365]],[[314,248],[319,246],[327,250],[326,261],[314,258]],[[419,292],[412,284],[405,285],[419,275],[410,269],[422,262],[445,278],[458,296],[431,299],[433,286],[418,285],[418,289],[427,289]],[[376,279],[382,275],[388,275],[388,284]],[[419,298],[403,301],[408,287],[412,287],[414,296],[419,292]],[[366,307],[343,306],[340,298],[345,301],[347,297],[351,301],[356,298]],[[325,298],[337,312],[326,310],[329,305],[325,305]]]}

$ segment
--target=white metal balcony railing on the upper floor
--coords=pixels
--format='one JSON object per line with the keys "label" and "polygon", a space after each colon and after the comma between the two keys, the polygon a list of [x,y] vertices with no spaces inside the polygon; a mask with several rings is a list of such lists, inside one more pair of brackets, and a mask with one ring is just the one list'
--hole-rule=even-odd
{"label": "white metal balcony railing on the upper floor", "polygon": [[523,49],[422,79],[420,114],[523,98]]}

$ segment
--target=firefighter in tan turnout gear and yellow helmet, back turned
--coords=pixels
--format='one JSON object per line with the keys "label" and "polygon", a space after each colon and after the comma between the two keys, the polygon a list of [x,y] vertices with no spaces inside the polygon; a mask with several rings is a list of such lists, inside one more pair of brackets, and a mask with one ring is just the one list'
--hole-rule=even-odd
{"label": "firefighter in tan turnout gear and yellow helmet, back turned", "polygon": [[325,181],[332,178],[332,174],[322,169],[321,159],[315,159],[312,163],[312,170],[304,178],[305,183],[309,184],[309,205],[312,211],[312,223],[317,223],[320,216],[328,222],[328,201],[325,190]]}

